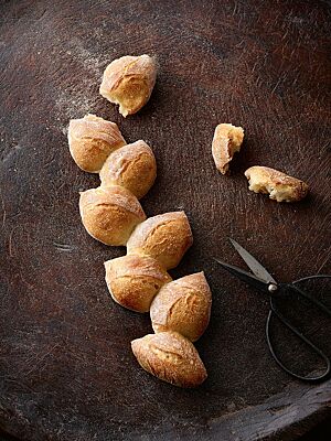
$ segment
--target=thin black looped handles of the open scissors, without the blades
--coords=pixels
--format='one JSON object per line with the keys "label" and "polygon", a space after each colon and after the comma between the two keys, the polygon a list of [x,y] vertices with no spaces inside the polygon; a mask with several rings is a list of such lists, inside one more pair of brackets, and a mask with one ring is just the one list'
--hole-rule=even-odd
{"label": "thin black looped handles of the open scissors, without the blades", "polygon": [[[308,278],[307,278],[308,279]],[[301,279],[303,280],[303,279]],[[291,290],[295,290],[299,295],[303,297],[305,299],[309,300],[311,303],[313,303],[314,305],[317,305],[321,311],[323,311],[324,313],[327,313],[327,315],[329,315],[331,318],[331,311],[320,301],[318,301],[317,299],[312,298],[311,295],[309,295],[307,292],[302,291],[300,288],[296,287],[295,284],[296,282],[291,283],[291,284],[286,284],[282,287],[289,288]],[[266,337],[267,337],[267,344],[269,347],[269,351],[274,357],[274,359],[276,361],[276,363],[289,375],[291,375],[295,378],[298,378],[300,380],[303,381],[309,381],[309,383],[316,383],[316,381],[321,381],[323,379],[325,379],[331,372],[331,361],[330,358],[327,356],[327,354],[324,354],[319,347],[317,347],[306,335],[303,335],[296,326],[293,326],[276,308],[275,303],[274,303],[274,298],[270,297],[270,311],[267,318],[267,323],[266,323]],[[284,365],[284,363],[279,359],[279,357],[277,356],[273,342],[271,342],[271,337],[270,337],[270,322],[271,322],[271,318],[273,315],[276,315],[277,319],[287,327],[295,335],[297,335],[298,338],[300,338],[303,343],[306,343],[316,354],[318,354],[325,363],[325,369],[323,370],[322,374],[317,375],[317,376],[311,376],[311,377],[307,377],[307,376],[302,376],[300,374],[295,373],[293,370],[289,369],[287,366]]]}

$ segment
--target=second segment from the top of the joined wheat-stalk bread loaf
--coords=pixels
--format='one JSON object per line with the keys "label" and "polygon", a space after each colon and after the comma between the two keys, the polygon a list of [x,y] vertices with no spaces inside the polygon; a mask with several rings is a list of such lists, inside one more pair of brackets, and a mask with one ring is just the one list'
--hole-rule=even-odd
{"label": "second segment from the top of the joined wheat-stalk bread loaf", "polygon": [[111,153],[100,170],[103,186],[121,185],[138,198],[146,195],[157,178],[157,162],[145,141],[136,141]]}

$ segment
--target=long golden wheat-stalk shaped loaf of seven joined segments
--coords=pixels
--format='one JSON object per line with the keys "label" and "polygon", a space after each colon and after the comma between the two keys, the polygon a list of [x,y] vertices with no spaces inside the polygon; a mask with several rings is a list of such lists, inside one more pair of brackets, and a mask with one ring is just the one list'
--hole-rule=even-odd
{"label": "long golden wheat-stalk shaped loaf of seven joined segments", "polygon": [[127,255],[105,262],[111,298],[132,311],[148,312],[156,334],[131,343],[139,364],[160,379],[196,387],[206,378],[192,342],[205,331],[212,295],[203,272],[172,280],[193,243],[184,212],[153,217],[138,201],[151,187],[157,163],[142,140],[127,144],[117,125],[93,115],[72,120],[70,150],[77,165],[98,172],[100,185],[81,193],[79,213],[87,233]]}

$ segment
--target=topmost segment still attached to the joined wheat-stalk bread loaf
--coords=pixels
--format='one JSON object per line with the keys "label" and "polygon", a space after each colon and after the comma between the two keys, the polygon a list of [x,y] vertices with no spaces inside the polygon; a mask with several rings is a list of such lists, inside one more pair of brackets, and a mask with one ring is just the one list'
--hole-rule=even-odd
{"label": "topmost segment still attached to the joined wheat-stalk bread loaf", "polygon": [[126,144],[117,125],[95,115],[70,121],[68,144],[76,164],[84,171],[98,173],[116,149]]}

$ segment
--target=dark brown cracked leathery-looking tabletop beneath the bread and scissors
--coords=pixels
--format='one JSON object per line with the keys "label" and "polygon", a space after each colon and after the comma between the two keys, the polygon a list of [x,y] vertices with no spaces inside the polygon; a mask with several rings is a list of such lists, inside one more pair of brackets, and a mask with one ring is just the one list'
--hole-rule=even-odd
{"label": "dark brown cracked leathery-looking tabletop beneath the bread and scissors", "polygon": [[[328,2],[22,0],[1,1],[0,14],[0,427],[30,441],[292,440],[329,418],[330,380],[279,370],[267,300],[212,260],[239,263],[231,236],[280,280],[330,272]],[[157,86],[124,120],[98,86],[113,58],[141,53],[158,57]],[[129,342],[151,332],[149,318],[107,294],[103,261],[125,249],[83,229],[78,191],[97,178],[66,142],[70,118],[87,111],[153,148],[146,213],[190,217],[194,245],[172,276],[205,270],[214,301],[196,390],[138,367]],[[246,131],[229,178],[211,155],[222,121]],[[259,163],[306,180],[310,196],[287,205],[248,192],[243,172]]]}

